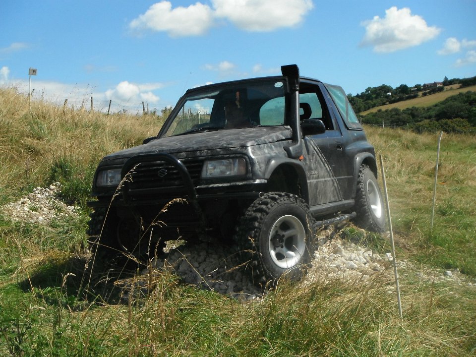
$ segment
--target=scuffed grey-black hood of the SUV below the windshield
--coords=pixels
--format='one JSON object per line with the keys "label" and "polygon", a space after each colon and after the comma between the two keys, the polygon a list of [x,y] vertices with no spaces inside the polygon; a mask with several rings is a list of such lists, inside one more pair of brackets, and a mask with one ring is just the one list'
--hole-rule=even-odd
{"label": "scuffed grey-black hood of the SUV below the windshield", "polygon": [[262,126],[244,129],[198,132],[188,135],[169,136],[152,140],[144,145],[124,149],[106,156],[105,160],[129,158],[150,153],[185,153],[214,149],[233,149],[291,140],[289,126]]}

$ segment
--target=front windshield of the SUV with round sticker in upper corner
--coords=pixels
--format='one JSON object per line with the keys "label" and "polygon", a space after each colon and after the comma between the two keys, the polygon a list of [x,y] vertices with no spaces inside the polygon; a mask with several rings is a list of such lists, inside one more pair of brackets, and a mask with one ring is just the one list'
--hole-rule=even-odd
{"label": "front windshield of the SUV with round sticker in upper corner", "polygon": [[164,136],[285,123],[284,78],[237,81],[190,91]]}

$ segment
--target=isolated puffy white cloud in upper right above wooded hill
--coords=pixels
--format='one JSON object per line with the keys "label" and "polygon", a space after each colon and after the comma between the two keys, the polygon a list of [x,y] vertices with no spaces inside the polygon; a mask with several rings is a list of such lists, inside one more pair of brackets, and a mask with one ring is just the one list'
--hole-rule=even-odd
{"label": "isolated puffy white cloud in upper right above wooded hill", "polygon": [[419,15],[412,15],[408,7],[396,6],[385,10],[385,17],[374,16],[361,23],[365,36],[361,46],[373,46],[378,53],[389,53],[418,46],[436,37],[441,29],[428,26]]}

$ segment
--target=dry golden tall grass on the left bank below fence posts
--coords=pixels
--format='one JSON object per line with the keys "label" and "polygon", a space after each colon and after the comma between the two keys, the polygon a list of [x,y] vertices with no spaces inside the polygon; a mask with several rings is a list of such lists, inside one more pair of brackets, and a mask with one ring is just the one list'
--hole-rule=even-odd
{"label": "dry golden tall grass on the left bank below fence posts", "polygon": [[15,88],[0,89],[0,187],[15,190],[45,183],[67,162],[77,174],[111,152],[154,136],[164,118],[93,112],[32,100]]}

